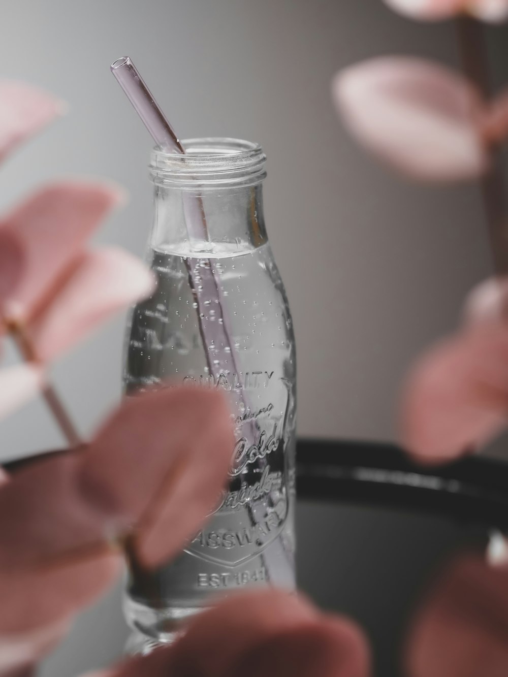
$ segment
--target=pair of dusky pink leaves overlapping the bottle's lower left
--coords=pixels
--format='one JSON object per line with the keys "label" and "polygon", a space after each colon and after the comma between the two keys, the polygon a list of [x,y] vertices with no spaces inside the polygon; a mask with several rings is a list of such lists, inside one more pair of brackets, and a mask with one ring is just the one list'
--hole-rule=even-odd
{"label": "pair of dusky pink leaves overlapping the bottle's lower left", "polygon": [[126,401],[89,448],[18,471],[0,489],[0,635],[100,594],[119,573],[112,540],[134,525],[139,561],[175,554],[206,519],[233,445],[219,393],[169,388]]}

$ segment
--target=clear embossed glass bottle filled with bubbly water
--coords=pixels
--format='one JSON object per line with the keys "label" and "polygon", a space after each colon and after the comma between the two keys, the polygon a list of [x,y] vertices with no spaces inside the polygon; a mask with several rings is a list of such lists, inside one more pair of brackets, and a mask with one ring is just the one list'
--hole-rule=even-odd
{"label": "clear embossed glass bottle filled with bubbly water", "polygon": [[263,217],[266,156],[236,139],[184,146],[152,152],[158,287],[131,315],[125,389],[223,389],[236,445],[229,490],[186,550],[150,580],[130,572],[127,620],[156,642],[211,595],[295,586],[295,341]]}

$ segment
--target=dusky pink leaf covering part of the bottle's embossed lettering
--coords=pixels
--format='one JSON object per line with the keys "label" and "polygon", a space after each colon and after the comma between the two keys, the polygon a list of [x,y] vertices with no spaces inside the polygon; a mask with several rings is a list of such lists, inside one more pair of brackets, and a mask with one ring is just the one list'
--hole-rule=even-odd
{"label": "dusky pink leaf covering part of the bottle's embossed lettering", "polygon": [[138,523],[142,564],[173,556],[215,507],[234,447],[229,416],[217,391],[145,393],[124,403],[83,457],[82,491],[118,524]]}

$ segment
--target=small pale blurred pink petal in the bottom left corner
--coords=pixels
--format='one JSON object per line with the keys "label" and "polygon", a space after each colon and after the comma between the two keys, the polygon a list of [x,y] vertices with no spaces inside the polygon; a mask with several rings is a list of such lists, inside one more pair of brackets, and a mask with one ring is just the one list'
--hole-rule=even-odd
{"label": "small pale blurred pink petal in the bottom left corner", "polygon": [[0,674],[10,674],[22,665],[35,663],[68,632],[68,621],[37,628],[25,634],[0,636]]}

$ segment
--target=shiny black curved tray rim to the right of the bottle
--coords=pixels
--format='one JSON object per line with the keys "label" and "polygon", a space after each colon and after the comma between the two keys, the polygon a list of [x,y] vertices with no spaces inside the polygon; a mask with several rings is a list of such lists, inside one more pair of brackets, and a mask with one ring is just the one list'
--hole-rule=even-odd
{"label": "shiny black curved tray rim to the right of the bottle", "polygon": [[508,530],[508,463],[482,456],[428,467],[396,445],[300,439],[297,496]]}

